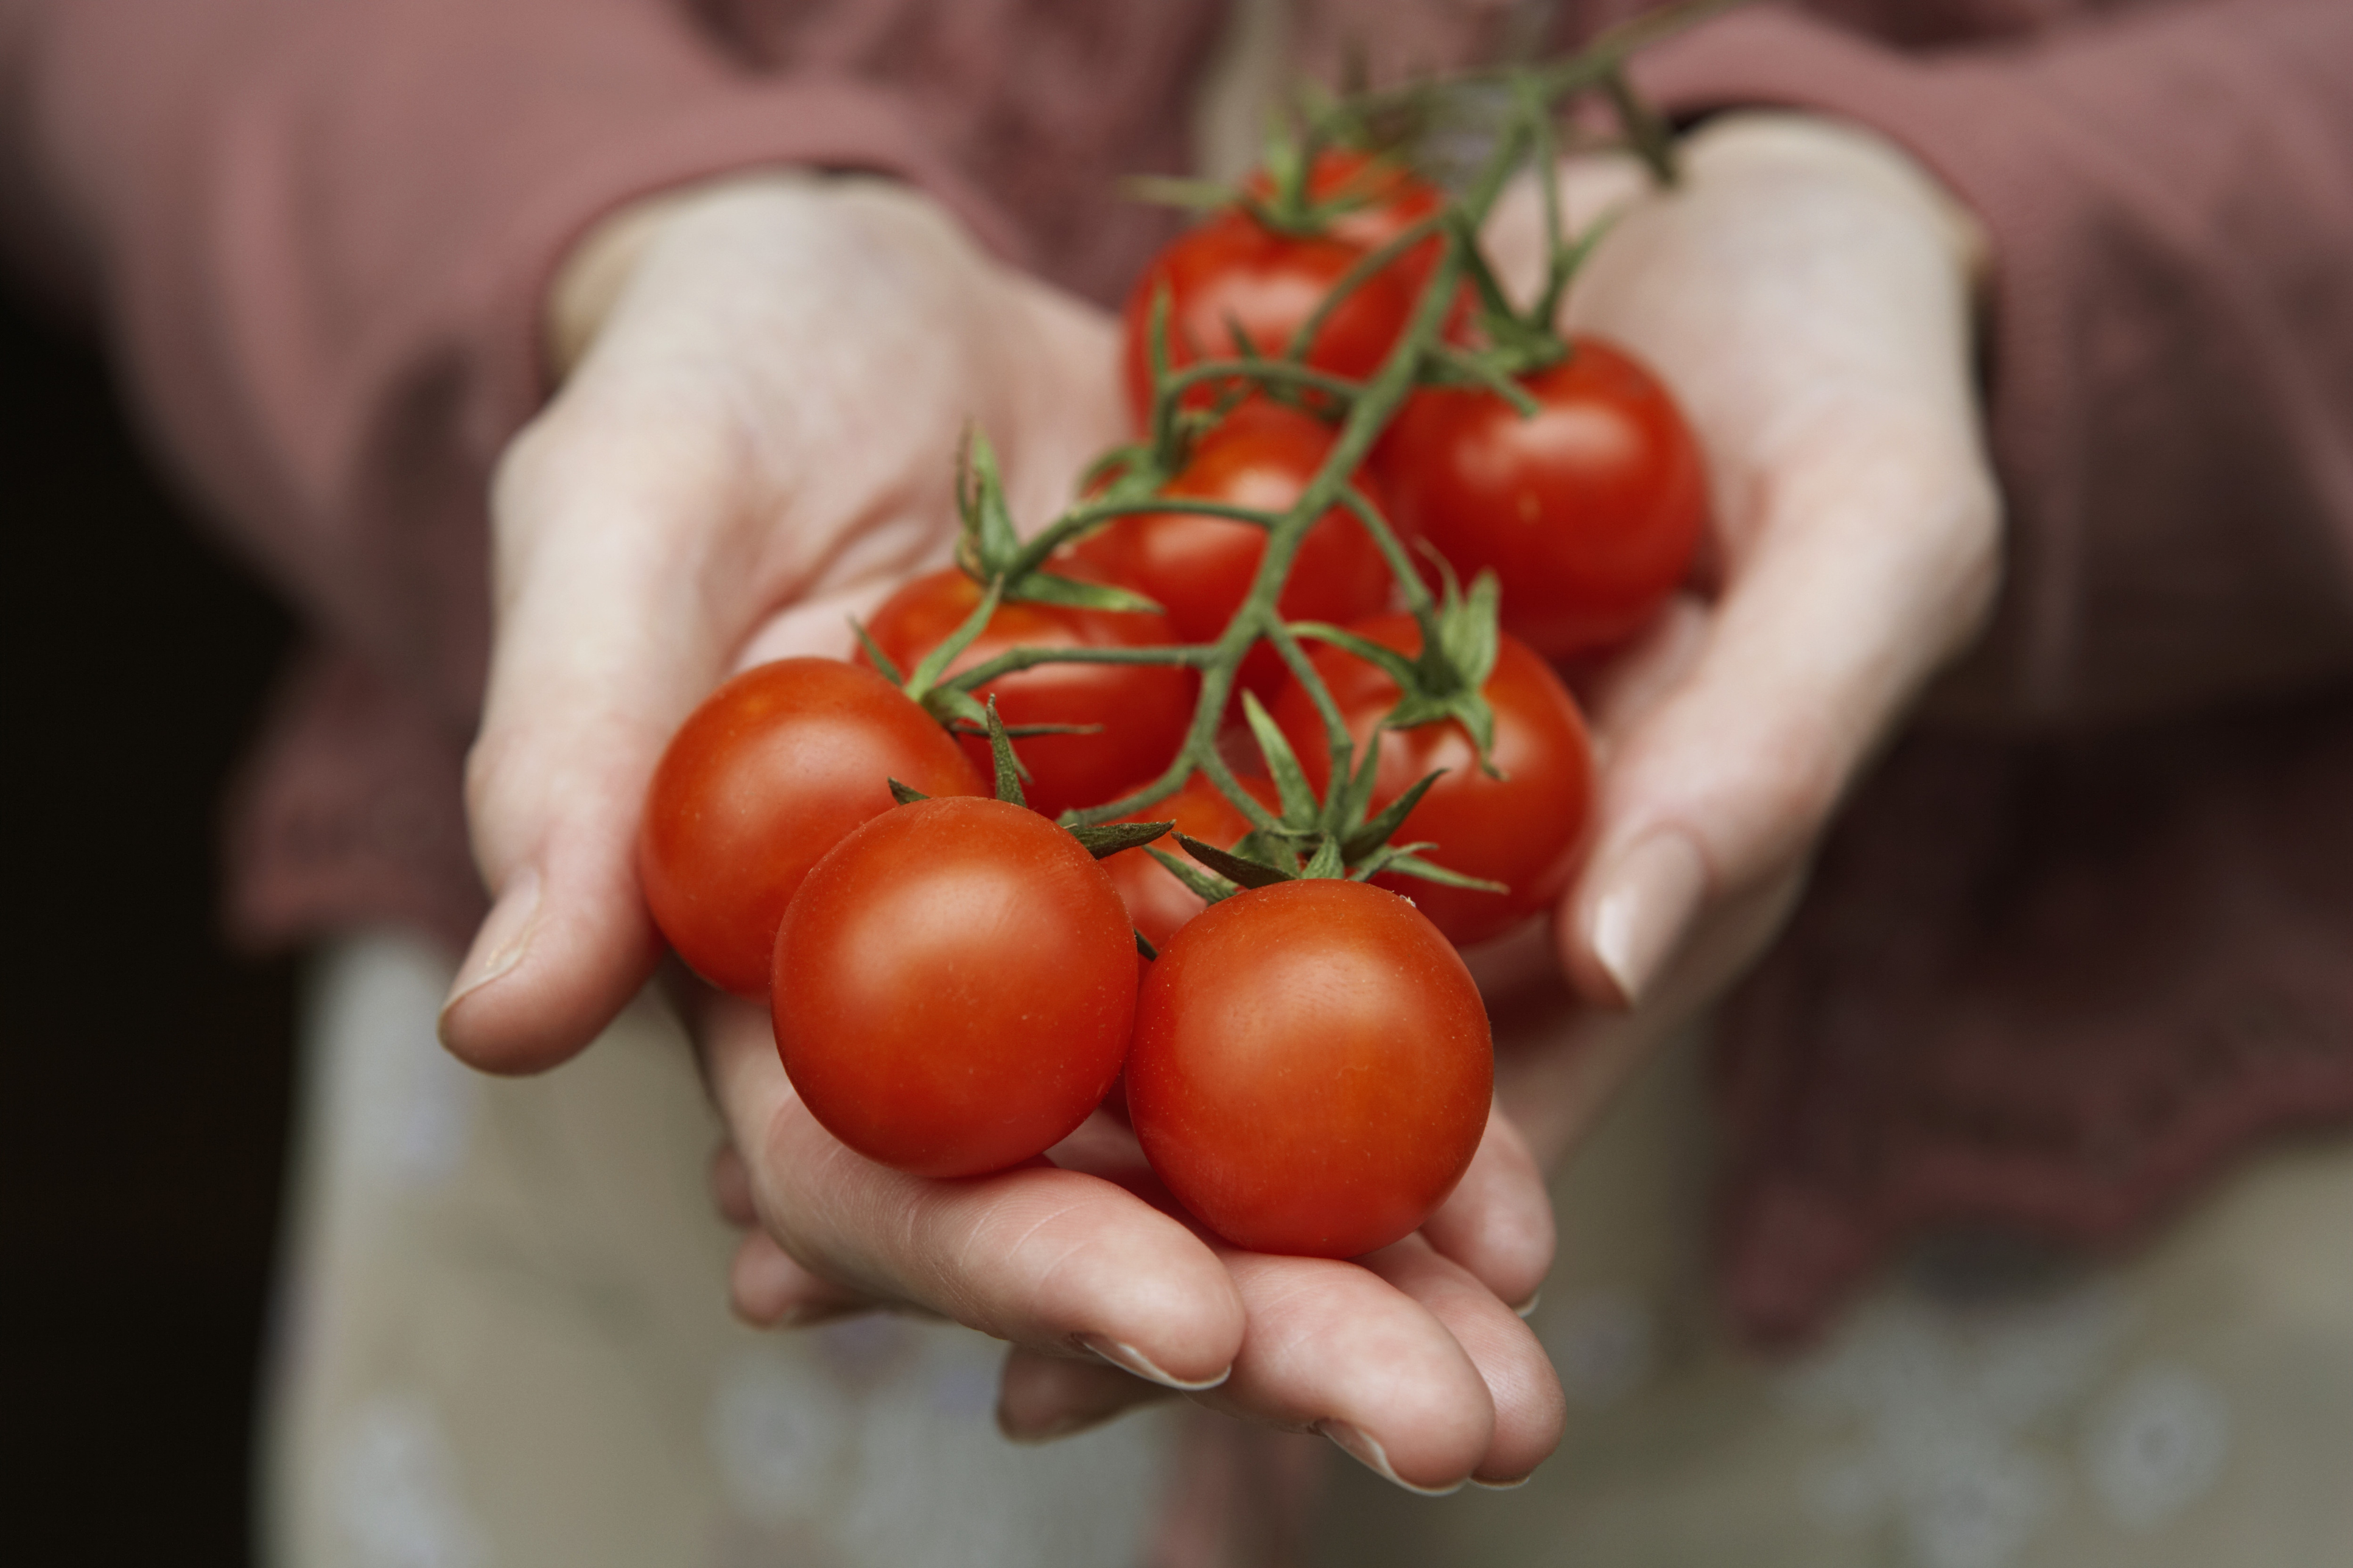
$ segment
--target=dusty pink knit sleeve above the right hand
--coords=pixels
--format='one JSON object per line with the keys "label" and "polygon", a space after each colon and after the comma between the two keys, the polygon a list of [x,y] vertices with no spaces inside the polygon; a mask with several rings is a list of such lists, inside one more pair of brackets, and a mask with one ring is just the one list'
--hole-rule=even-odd
{"label": "dusty pink knit sleeve above the right hand", "polygon": [[1678,113],[1868,125],[1991,231],[2014,544],[1988,659],[2028,713],[2353,669],[2353,7],[2151,5],[1918,54],[1760,9],[1640,78]]}

